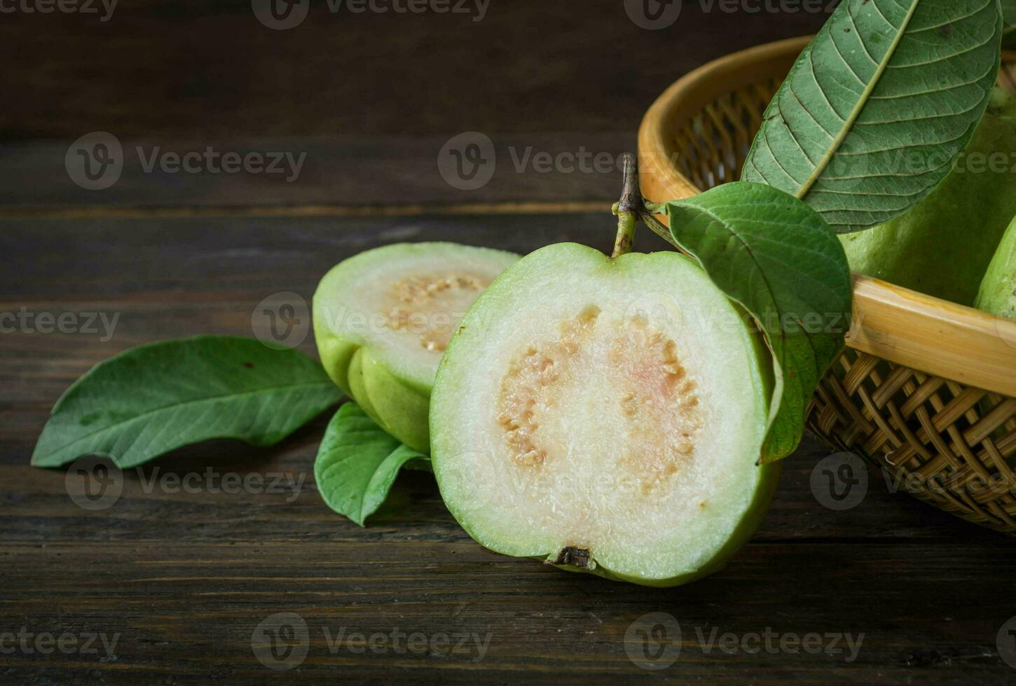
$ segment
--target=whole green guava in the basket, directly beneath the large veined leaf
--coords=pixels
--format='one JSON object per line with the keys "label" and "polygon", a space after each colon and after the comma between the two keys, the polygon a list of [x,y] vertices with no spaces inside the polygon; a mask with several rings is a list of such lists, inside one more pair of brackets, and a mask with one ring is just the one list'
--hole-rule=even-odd
{"label": "whole green guava in the basket, directly beneath the large veined leaf", "polygon": [[1016,109],[993,93],[965,154],[931,195],[905,214],[839,236],[850,268],[960,304],[977,284],[1016,215]]}

